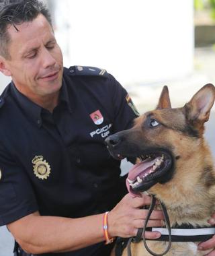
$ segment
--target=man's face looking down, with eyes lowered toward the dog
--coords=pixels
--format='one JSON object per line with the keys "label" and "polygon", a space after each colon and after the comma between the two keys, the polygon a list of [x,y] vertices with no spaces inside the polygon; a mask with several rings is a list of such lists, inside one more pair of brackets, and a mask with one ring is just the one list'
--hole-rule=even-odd
{"label": "man's face looking down, with eyes lowered toward the dog", "polygon": [[62,84],[62,53],[52,28],[44,15],[32,22],[9,26],[11,38],[5,60],[6,74],[11,75],[17,89],[28,98],[51,96]]}

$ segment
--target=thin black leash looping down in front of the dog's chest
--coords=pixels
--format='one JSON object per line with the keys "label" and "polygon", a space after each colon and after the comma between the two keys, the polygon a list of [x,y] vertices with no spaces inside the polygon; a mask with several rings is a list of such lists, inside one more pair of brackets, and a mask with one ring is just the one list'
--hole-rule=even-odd
{"label": "thin black leash looping down in front of the dog's chest", "polygon": [[171,248],[171,226],[170,226],[169,216],[168,216],[168,213],[167,213],[167,208],[165,207],[164,203],[161,203],[161,202],[160,202],[161,210],[163,211],[163,216],[164,216],[164,219],[165,219],[165,224],[166,224],[167,230],[169,232],[169,244],[167,246],[167,249],[163,253],[154,253],[153,251],[151,251],[148,248],[148,245],[146,243],[146,238],[145,238],[146,226],[148,224],[148,220],[150,219],[150,216],[151,216],[151,214],[152,214],[152,212],[154,210],[155,204],[156,204],[155,195],[152,195],[151,197],[152,197],[152,201],[150,203],[150,207],[148,209],[148,214],[146,216],[146,220],[144,222],[143,228],[138,228],[138,232],[136,234],[136,237],[135,238],[129,238],[129,240],[128,240],[128,244],[127,244],[128,256],[132,256],[131,248],[130,248],[131,243],[132,242],[133,243],[138,243],[142,239],[143,239],[144,247],[146,248],[148,253],[150,253],[153,256],[163,256],[166,253],[168,253],[169,249]]}

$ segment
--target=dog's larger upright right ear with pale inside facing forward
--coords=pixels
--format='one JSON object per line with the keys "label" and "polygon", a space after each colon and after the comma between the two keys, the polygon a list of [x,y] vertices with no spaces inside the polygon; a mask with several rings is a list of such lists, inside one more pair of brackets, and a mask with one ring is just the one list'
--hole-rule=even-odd
{"label": "dog's larger upright right ear with pale inside facing forward", "polygon": [[208,121],[214,100],[215,87],[212,84],[206,84],[185,104],[187,119],[203,123]]}

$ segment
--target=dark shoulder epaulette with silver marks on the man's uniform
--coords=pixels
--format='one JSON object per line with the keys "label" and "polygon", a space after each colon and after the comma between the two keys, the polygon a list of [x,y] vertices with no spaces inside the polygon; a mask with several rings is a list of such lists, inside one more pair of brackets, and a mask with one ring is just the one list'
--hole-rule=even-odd
{"label": "dark shoulder epaulette with silver marks on the man's uniform", "polygon": [[97,75],[107,77],[107,71],[105,69],[99,69],[98,67],[72,66],[69,67],[69,73],[72,75]]}

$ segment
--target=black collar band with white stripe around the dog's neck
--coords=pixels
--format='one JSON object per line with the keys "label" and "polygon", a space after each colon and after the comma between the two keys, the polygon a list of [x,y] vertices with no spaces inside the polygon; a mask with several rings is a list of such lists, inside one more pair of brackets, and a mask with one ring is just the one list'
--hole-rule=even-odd
{"label": "black collar band with white stripe around the dog's neck", "polygon": [[[156,241],[169,241],[169,231],[167,228],[152,228],[152,231],[161,233],[161,237]],[[172,242],[204,242],[212,238],[215,234],[215,227],[210,228],[171,228]]]}

